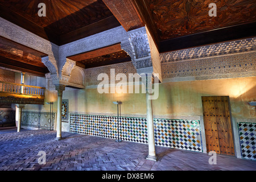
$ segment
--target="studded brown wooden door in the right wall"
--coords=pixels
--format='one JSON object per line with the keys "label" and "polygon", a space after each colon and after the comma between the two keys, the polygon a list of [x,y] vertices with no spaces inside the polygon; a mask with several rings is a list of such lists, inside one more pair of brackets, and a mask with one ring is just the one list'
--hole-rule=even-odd
{"label": "studded brown wooden door in the right wall", "polygon": [[228,96],[202,97],[207,152],[234,155]]}

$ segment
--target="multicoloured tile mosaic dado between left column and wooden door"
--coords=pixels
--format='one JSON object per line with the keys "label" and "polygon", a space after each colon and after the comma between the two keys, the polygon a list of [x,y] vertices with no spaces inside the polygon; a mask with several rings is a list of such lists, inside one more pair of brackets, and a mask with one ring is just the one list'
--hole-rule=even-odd
{"label": "multicoloured tile mosaic dado between left column and wooden door", "polygon": [[[199,121],[154,119],[154,125],[156,145],[202,151]],[[70,132],[117,139],[117,117],[71,114]],[[119,138],[147,143],[147,119],[119,117]]]}

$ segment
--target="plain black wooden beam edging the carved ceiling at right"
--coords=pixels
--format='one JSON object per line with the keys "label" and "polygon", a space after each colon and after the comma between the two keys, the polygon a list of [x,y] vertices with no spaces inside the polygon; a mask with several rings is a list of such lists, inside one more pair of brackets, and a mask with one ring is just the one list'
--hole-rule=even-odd
{"label": "plain black wooden beam edging the carved ceiling at right", "polygon": [[177,51],[236,39],[250,38],[256,36],[255,30],[256,22],[250,22],[163,40],[160,42],[159,52]]}

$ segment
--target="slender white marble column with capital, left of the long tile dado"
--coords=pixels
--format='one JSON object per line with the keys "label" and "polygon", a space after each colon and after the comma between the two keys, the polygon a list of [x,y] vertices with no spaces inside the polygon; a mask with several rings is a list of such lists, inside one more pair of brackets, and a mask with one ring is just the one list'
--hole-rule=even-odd
{"label": "slender white marble column with capital, left of the long tile dado", "polygon": [[57,125],[56,125],[56,130],[57,130],[57,135],[56,135],[56,140],[60,140],[61,137],[61,109],[62,109],[62,94],[63,91],[65,90],[65,85],[55,85],[55,89],[58,92],[58,100],[57,100]]}

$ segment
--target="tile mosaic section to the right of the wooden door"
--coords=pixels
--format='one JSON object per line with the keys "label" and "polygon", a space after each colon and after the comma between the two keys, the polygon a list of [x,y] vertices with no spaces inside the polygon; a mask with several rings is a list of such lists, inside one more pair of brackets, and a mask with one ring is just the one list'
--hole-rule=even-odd
{"label": "tile mosaic section to the right of the wooden door", "polygon": [[256,160],[256,123],[238,123],[243,159]]}

